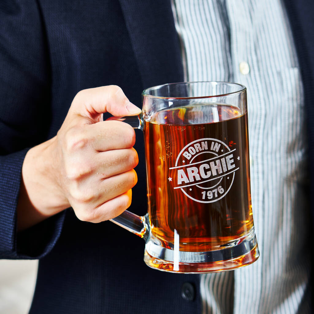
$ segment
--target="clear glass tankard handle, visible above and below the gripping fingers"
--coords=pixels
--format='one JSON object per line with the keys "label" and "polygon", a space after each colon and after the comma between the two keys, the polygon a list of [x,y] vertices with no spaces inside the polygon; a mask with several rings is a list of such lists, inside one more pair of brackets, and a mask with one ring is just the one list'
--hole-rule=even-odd
{"label": "clear glass tankard handle, visible above and below the gripping fingers", "polygon": [[[108,120],[126,122],[134,129],[143,130],[144,128],[144,119],[142,113],[140,113],[138,116],[110,117],[106,121]],[[150,238],[150,225],[148,214],[146,214],[145,216],[138,216],[129,212],[128,210],[125,210],[116,218],[110,219],[110,221],[140,236],[145,240],[145,242],[147,242]]]}

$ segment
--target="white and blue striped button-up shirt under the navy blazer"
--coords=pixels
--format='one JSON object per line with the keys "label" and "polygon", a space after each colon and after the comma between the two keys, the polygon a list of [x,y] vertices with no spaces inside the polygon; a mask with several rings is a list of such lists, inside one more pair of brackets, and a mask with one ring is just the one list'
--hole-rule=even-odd
{"label": "white and blue striped button-up shirt under the navy blazer", "polygon": [[260,257],[201,275],[203,313],[309,313],[303,86],[280,0],[173,0],[187,81],[247,87]]}

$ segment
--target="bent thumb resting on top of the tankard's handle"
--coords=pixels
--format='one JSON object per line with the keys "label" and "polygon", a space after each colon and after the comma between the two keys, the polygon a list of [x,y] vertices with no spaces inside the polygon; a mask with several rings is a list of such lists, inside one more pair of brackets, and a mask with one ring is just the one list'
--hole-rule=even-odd
{"label": "bent thumb resting on top of the tankard's handle", "polygon": [[96,119],[105,112],[113,116],[134,116],[141,109],[133,105],[116,85],[83,89],[74,97],[71,111],[87,118]]}

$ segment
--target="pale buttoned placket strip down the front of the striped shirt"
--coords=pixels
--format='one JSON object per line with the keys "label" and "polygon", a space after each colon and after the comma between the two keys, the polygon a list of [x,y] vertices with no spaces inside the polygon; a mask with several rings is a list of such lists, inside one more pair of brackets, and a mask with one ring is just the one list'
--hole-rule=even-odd
{"label": "pale buttoned placket strip down the front of the striped shirt", "polygon": [[[265,88],[260,78],[259,64],[254,44],[252,10],[249,1],[227,0],[230,23],[230,52],[233,80],[247,87],[248,128],[250,149],[251,196],[254,227],[260,252],[263,252],[263,129],[265,127]],[[254,312],[258,312],[259,286],[262,283],[263,255],[256,263],[235,271],[234,312],[245,312],[241,300],[256,296]],[[254,278],[254,282],[252,282]],[[253,301],[253,300],[252,300]]]}

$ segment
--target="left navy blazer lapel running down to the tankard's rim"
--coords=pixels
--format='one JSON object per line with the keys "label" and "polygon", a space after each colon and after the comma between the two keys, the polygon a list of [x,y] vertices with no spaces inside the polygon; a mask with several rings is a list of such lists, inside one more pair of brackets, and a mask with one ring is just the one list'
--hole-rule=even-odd
{"label": "left navy blazer lapel running down to the tankard's rim", "polygon": [[143,88],[183,81],[171,2],[120,0]]}

